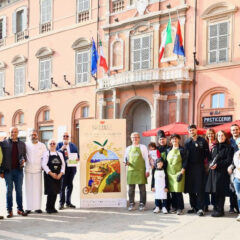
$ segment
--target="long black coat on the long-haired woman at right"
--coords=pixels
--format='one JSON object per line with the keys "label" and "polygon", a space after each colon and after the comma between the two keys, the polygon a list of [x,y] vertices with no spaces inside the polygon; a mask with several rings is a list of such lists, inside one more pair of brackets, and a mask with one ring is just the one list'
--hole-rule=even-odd
{"label": "long black coat on the long-haired woman at right", "polygon": [[227,143],[218,143],[212,149],[210,164],[217,156],[217,167],[215,170],[209,170],[206,192],[217,193],[220,196],[229,194],[230,176],[227,168],[232,163],[233,153],[234,149]]}

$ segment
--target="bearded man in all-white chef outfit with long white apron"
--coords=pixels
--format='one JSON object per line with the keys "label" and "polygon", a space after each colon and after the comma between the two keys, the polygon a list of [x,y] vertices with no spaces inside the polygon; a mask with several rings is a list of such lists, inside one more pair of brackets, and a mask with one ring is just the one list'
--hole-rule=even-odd
{"label": "bearded man in all-white chef outfit with long white apron", "polygon": [[25,167],[26,212],[42,213],[42,167],[43,153],[47,150],[45,144],[38,141],[38,133],[32,130],[26,143],[27,159]]}

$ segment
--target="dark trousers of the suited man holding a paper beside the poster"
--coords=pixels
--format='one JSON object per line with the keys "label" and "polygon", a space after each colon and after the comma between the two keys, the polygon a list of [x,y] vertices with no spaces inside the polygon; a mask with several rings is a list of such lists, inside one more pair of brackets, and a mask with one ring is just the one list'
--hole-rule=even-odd
{"label": "dark trousers of the suited man holding a paper beside the poster", "polygon": [[65,174],[62,176],[60,205],[71,204],[71,195],[73,190],[73,178],[76,174],[76,167],[66,167]]}

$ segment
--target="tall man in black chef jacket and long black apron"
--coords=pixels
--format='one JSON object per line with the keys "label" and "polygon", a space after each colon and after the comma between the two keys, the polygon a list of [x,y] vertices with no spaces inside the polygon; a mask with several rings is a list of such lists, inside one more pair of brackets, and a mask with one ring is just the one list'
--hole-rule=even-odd
{"label": "tall man in black chef jacket and long black apron", "polygon": [[198,216],[204,216],[204,190],[205,170],[204,160],[209,157],[207,141],[197,135],[197,126],[191,124],[188,127],[190,138],[185,142],[186,151],[186,178],[185,192],[189,193],[190,205],[188,213],[197,212]]}

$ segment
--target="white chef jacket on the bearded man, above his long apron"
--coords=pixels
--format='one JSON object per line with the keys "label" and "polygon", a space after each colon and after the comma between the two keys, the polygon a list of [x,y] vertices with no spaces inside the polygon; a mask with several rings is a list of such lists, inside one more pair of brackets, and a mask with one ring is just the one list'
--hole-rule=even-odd
{"label": "white chef jacket on the bearded man, above his long apron", "polygon": [[27,161],[25,171],[29,173],[39,173],[42,171],[42,157],[43,153],[47,150],[45,144],[37,142],[36,144],[32,142],[26,143],[26,154]]}

